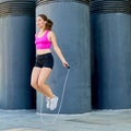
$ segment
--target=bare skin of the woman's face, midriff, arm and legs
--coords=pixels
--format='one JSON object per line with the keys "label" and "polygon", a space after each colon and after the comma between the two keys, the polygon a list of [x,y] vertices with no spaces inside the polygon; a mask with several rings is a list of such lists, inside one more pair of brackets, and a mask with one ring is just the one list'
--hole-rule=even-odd
{"label": "bare skin of the woman's face, midriff, arm and legs", "polygon": [[[39,28],[37,37],[44,36],[44,34],[46,33],[46,29],[45,29],[46,21],[44,21],[40,16],[37,16],[36,25]],[[66,59],[58,46],[56,35],[52,31],[50,31],[48,33],[47,38],[51,41],[52,48],[53,48],[55,52],[58,55],[58,57],[60,58],[63,67],[68,67],[69,64],[66,61]],[[51,52],[51,50],[50,49],[36,49],[36,55],[44,55],[47,52]],[[33,71],[32,71],[32,76],[31,76],[31,85],[36,91],[43,93],[46,97],[53,98],[53,93],[52,93],[50,86],[46,83],[46,80],[49,78],[50,73],[51,73],[50,68],[34,67]]]}

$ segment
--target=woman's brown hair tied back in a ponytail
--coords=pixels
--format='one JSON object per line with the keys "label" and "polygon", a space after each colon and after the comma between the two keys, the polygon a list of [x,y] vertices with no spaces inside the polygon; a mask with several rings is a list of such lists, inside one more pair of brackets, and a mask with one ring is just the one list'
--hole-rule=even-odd
{"label": "woman's brown hair tied back in a ponytail", "polygon": [[39,14],[38,16],[40,16],[44,21],[47,21],[45,29],[51,31],[53,24],[52,21],[49,20],[45,14]]}

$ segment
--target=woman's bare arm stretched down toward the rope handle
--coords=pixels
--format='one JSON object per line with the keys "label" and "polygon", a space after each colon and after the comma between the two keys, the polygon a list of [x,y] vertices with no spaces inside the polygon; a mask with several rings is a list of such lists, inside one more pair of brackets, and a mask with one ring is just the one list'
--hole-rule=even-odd
{"label": "woman's bare arm stretched down toward the rope handle", "polygon": [[62,55],[62,52],[61,52],[61,50],[60,50],[60,48],[59,48],[59,46],[57,44],[57,38],[56,38],[55,33],[50,32],[49,36],[50,36],[50,40],[52,43],[53,50],[58,55],[58,57],[60,58],[62,64],[64,67],[69,67],[69,63],[66,61],[66,59],[64,59],[64,57],[63,57],[63,55]]}

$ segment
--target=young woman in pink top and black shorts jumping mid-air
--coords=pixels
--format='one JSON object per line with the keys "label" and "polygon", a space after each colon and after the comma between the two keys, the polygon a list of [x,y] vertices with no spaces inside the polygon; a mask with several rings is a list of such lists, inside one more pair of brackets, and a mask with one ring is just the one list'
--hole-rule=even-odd
{"label": "young woman in pink top and black shorts jumping mid-air", "polygon": [[62,64],[64,67],[69,66],[57,44],[55,33],[51,31],[52,24],[52,21],[47,19],[45,14],[39,14],[36,19],[39,32],[35,35],[36,62],[31,78],[31,85],[46,96],[46,106],[50,110],[55,110],[58,104],[58,96],[52,93],[50,86],[46,83],[53,67],[53,57],[50,50],[51,45]]}

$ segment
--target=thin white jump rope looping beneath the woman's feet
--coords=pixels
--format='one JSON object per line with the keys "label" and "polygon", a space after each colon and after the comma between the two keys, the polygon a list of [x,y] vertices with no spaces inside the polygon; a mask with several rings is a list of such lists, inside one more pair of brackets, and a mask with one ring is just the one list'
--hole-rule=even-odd
{"label": "thin white jump rope looping beneath the woman's feet", "polygon": [[52,121],[50,121],[49,123],[46,123],[44,121],[44,116],[43,116],[43,103],[44,103],[44,96],[41,94],[41,103],[40,103],[40,120],[44,124],[52,124],[57,121],[58,117],[59,117],[59,114],[61,111],[61,107],[62,107],[62,103],[63,103],[63,97],[64,97],[64,93],[66,93],[66,86],[67,86],[67,83],[68,83],[68,78],[69,78],[69,73],[70,73],[70,67],[67,67],[68,68],[68,72],[67,72],[67,75],[66,75],[66,79],[64,79],[64,83],[63,83],[63,90],[62,90],[62,95],[61,95],[61,100],[60,100],[60,106],[58,108],[58,112],[56,114],[55,116],[55,119]]}

